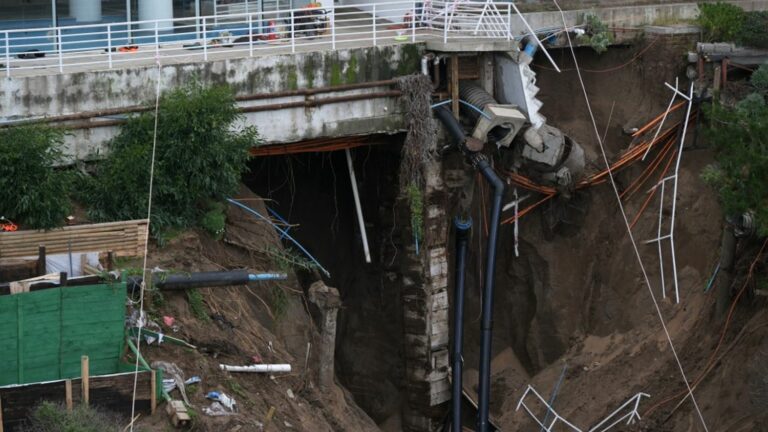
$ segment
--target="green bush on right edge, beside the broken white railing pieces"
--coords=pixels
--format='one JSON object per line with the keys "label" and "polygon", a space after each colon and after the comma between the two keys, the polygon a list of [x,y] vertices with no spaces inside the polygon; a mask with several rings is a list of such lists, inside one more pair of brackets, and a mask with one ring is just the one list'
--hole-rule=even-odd
{"label": "green bush on right edge, beside the broken white railing pieces", "polygon": [[768,106],[763,96],[750,95],[735,108],[708,108],[706,137],[716,163],[702,178],[713,186],[726,214],[753,211],[762,235],[768,235]]}

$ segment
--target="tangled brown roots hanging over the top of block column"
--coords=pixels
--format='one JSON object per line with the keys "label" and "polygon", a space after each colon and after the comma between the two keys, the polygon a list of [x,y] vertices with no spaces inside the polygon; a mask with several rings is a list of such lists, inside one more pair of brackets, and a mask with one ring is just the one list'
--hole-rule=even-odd
{"label": "tangled brown roots hanging over the top of block column", "polygon": [[409,185],[424,187],[422,166],[435,159],[437,125],[432,117],[432,81],[426,75],[407,75],[397,79],[403,93],[407,134],[400,161],[400,190]]}

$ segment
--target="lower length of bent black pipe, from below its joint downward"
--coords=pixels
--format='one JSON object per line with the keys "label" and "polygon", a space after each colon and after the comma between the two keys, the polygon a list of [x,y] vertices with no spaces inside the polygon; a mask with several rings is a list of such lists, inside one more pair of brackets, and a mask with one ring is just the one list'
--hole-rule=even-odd
{"label": "lower length of bent black pipe, from below its joint downward", "polygon": [[483,312],[480,323],[480,383],[478,386],[478,432],[490,430],[489,411],[491,399],[491,335],[493,332],[493,289],[496,283],[496,250],[501,220],[501,201],[505,185],[482,154],[472,156],[472,163],[493,189],[493,205],[489,222],[488,244],[485,259],[485,284],[483,286]]}

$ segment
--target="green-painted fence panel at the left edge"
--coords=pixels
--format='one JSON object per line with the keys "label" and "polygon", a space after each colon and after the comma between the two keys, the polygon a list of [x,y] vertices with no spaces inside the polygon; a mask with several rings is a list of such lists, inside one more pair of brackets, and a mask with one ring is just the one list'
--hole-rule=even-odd
{"label": "green-painted fence panel at the left edge", "polygon": [[0,296],[0,385],[72,378],[80,357],[94,375],[118,370],[125,284],[50,288]]}

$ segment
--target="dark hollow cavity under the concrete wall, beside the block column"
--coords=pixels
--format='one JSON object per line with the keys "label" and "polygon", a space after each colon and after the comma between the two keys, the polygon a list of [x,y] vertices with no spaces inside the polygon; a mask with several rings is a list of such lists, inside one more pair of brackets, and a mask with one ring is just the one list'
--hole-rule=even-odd
{"label": "dark hollow cavity under the concrete wall, beside the block column", "polygon": [[[367,137],[351,150],[371,252],[365,262],[343,142],[334,150],[257,156],[245,184],[292,226],[339,290],[337,382],[378,424],[396,416],[404,390],[396,212],[402,135]],[[407,223],[407,222],[405,222]],[[408,239],[406,240],[408,241]],[[307,284],[309,285],[309,284]],[[308,288],[304,287],[305,290]]]}

